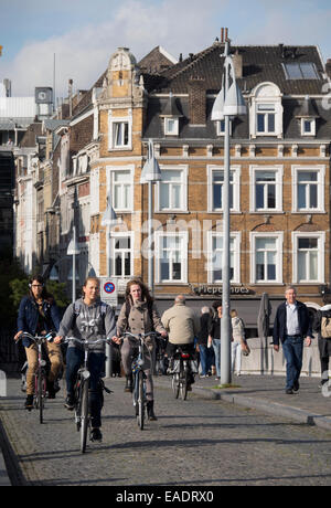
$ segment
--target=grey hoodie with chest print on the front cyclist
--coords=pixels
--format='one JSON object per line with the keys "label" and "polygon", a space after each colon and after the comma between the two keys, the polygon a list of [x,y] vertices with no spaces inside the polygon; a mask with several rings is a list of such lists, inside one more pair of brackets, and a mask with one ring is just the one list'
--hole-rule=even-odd
{"label": "grey hoodie with chest print on the front cyclist", "polygon": [[[104,315],[102,307],[105,309]],[[79,310],[78,315],[75,315],[75,309]],[[75,301],[75,307],[74,304],[71,304],[64,313],[58,335],[62,337],[88,339],[90,341],[105,337],[110,339],[116,336],[114,311],[109,305],[102,303],[102,300],[97,300],[95,304],[87,306],[84,304],[83,298],[79,298]],[[83,349],[78,342],[70,342],[68,347]],[[93,345],[90,349],[94,352],[104,352],[105,342]]]}

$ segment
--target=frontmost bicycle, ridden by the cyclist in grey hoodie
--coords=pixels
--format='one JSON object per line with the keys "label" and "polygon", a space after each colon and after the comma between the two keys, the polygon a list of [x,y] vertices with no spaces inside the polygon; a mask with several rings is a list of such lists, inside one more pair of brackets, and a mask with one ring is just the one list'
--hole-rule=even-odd
{"label": "frontmost bicycle, ridden by the cyclist in grey hoodie", "polygon": [[[86,442],[87,442],[87,431],[90,431],[90,415],[89,415],[89,378],[90,372],[88,370],[88,357],[89,357],[89,346],[97,345],[100,342],[109,342],[108,339],[98,339],[98,340],[85,340],[85,339],[77,339],[76,337],[68,337],[65,339],[64,343],[68,343],[72,341],[76,341],[84,346],[84,361],[82,367],[78,369],[77,379],[75,382],[74,388],[74,414],[75,414],[75,424],[77,432],[81,432],[81,452],[86,452]],[[100,390],[105,391],[106,393],[111,393],[111,390],[108,390],[102,378],[99,379]]]}

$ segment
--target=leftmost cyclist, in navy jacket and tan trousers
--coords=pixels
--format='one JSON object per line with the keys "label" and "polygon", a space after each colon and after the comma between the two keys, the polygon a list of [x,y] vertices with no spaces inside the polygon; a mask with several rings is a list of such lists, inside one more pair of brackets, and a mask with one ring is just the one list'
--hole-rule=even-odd
{"label": "leftmost cyclist, in navy jacket and tan trousers", "polygon": [[[57,331],[60,327],[60,311],[54,298],[47,293],[44,279],[35,275],[29,283],[29,295],[20,303],[18,316],[18,332],[14,340],[18,340],[23,331],[35,335],[46,335],[50,331]],[[23,338],[23,346],[28,359],[26,372],[26,401],[25,408],[33,408],[34,374],[38,369],[38,347],[28,338]],[[49,399],[55,399],[54,381],[63,367],[63,359],[60,346],[54,342],[45,342],[45,350],[50,359],[51,369],[47,378]]]}

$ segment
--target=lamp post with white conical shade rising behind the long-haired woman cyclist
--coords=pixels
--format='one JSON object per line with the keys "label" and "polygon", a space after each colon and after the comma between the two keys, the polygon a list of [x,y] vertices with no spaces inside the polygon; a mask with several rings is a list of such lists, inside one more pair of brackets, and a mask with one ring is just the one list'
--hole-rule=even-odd
{"label": "lamp post with white conical shade rising behind the long-haired woman cyclist", "polygon": [[148,141],[148,156],[147,161],[142,168],[140,183],[148,183],[148,286],[153,296],[154,294],[154,260],[152,255],[152,242],[153,242],[153,190],[152,186],[157,181],[162,180],[161,170],[159,163],[154,157],[154,147],[152,140]]}

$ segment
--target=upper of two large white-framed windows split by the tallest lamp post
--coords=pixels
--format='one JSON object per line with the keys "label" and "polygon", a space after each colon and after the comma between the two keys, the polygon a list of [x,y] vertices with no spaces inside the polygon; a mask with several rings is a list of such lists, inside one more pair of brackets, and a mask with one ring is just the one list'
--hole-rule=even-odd
{"label": "upper of two large white-framed windows split by the tallest lamp post", "polygon": [[[209,179],[209,212],[221,212],[224,201],[224,170],[217,166],[207,167]],[[241,168],[232,167],[229,171],[229,209],[238,212],[241,208],[239,194]]]}

